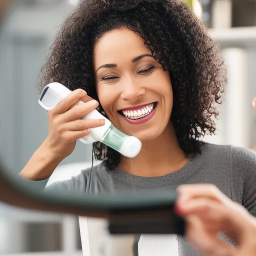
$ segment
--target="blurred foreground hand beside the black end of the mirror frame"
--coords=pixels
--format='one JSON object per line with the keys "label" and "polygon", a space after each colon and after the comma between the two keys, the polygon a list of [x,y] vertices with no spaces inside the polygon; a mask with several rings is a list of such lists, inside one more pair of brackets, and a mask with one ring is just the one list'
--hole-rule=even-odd
{"label": "blurred foreground hand beside the black end of the mirror frame", "polygon": [[[181,185],[176,211],[187,222],[186,237],[206,256],[255,256],[256,218],[211,184]],[[218,231],[238,246],[221,241]]]}

